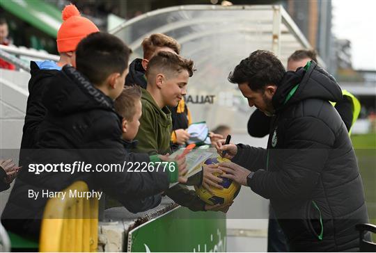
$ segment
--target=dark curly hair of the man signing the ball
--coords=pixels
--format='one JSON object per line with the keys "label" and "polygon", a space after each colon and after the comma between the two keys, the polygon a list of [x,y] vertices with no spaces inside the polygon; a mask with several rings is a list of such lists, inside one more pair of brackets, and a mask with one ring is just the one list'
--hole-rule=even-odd
{"label": "dark curly hair of the man signing the ball", "polygon": [[254,91],[263,90],[265,85],[279,85],[285,74],[281,60],[266,50],[254,51],[228,75],[231,83],[247,83]]}

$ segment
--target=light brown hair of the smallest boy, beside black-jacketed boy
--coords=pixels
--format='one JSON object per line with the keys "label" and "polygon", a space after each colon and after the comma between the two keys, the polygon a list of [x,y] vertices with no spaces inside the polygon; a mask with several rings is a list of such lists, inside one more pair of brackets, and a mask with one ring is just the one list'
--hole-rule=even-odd
{"label": "light brown hair of the smallest boy, beside black-jacketed boy", "polygon": [[131,122],[136,113],[136,102],[140,99],[141,88],[138,85],[126,86],[113,102],[113,106],[120,116]]}

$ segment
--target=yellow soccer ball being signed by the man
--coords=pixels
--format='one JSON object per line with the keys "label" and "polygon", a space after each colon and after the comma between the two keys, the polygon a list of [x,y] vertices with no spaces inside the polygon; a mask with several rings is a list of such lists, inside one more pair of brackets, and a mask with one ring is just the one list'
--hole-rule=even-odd
{"label": "yellow soccer ball being signed by the man", "polygon": [[[202,163],[203,165],[210,165],[216,164],[221,162],[229,162],[230,160],[226,158],[221,158],[221,156],[208,158],[206,161]],[[214,174],[217,177],[221,177],[219,174]],[[223,179],[222,183],[219,183],[221,186],[224,186],[223,189],[210,187],[214,195],[209,193],[203,186],[194,186],[196,190],[196,194],[200,199],[202,199],[207,204],[229,204],[235,199],[237,194],[240,191],[239,183],[234,182],[231,179],[227,179],[226,177],[221,177]]]}

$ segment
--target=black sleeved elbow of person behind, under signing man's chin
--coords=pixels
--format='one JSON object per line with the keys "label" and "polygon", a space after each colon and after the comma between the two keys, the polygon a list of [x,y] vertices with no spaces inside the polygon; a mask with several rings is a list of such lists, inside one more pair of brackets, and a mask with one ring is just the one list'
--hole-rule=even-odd
{"label": "black sleeved elbow of person behind, under signing man's chin", "polygon": [[262,111],[256,109],[249,117],[247,129],[252,137],[262,138],[269,134],[270,122],[272,117],[268,117]]}

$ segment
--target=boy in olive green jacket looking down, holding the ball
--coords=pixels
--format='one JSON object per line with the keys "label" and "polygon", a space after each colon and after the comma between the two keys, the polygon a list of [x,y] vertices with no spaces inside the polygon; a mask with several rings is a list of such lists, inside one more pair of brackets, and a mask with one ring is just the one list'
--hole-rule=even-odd
{"label": "boy in olive green jacket looking down, holding the ball", "polygon": [[[171,154],[171,112],[168,106],[177,106],[186,94],[188,79],[192,76],[193,61],[168,51],[159,51],[148,62],[148,85],[142,90],[142,116],[136,135],[138,152]],[[221,210],[221,206],[205,204],[194,190],[178,185],[166,191],[166,195],[191,211]]]}

